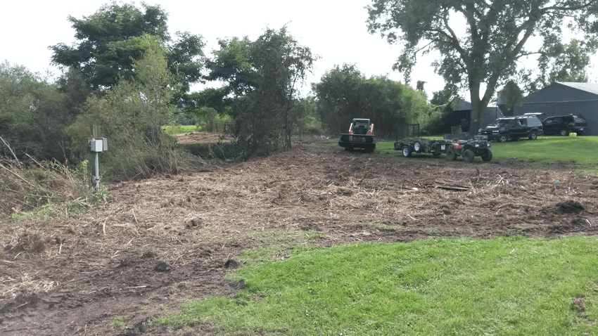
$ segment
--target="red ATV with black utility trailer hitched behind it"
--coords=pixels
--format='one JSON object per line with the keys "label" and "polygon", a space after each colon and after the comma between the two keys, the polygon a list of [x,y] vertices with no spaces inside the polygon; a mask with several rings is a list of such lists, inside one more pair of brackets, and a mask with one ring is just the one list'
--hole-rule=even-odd
{"label": "red ATV with black utility trailer hitched behind it", "polygon": [[[409,125],[415,126],[415,125]],[[414,127],[419,133],[419,127]],[[469,134],[445,134],[442,139],[420,138],[415,136],[409,129],[407,137],[395,142],[395,150],[400,150],[404,157],[410,157],[412,153],[428,153],[434,156],[446,154],[447,160],[457,159],[462,156],[463,160],[473,162],[473,158],[479,156],[483,161],[492,160],[490,141],[484,136],[469,136]]]}

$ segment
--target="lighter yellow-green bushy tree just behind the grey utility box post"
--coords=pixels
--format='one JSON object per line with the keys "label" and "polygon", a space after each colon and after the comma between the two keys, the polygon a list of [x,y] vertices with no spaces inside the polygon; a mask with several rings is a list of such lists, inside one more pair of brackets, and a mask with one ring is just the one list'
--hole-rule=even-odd
{"label": "lighter yellow-green bushy tree just behind the grey utility box post", "polygon": [[115,179],[179,169],[174,139],[161,130],[173,110],[174,77],[167,68],[166,51],[151,35],[141,37],[139,44],[143,51],[133,62],[134,78],[121,79],[106,95],[89,98],[84,112],[66,129],[74,150],[85,155],[91,126],[98,127],[96,136],[108,138],[110,143],[101,158]]}

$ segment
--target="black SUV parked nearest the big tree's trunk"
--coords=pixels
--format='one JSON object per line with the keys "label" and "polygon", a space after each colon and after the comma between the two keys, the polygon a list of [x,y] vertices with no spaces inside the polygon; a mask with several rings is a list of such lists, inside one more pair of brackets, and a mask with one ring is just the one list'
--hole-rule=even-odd
{"label": "black SUV parked nearest the big tree's trunk", "polygon": [[517,117],[503,117],[478,134],[488,136],[488,140],[505,142],[509,139],[529,138],[535,140],[542,134],[542,122],[535,115],[519,115]]}

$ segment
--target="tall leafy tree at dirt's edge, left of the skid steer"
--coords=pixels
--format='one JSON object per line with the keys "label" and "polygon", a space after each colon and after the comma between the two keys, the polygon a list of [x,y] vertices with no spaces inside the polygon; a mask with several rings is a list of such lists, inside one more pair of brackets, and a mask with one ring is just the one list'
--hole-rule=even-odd
{"label": "tall leafy tree at dirt's edge, left of the skid steer", "polygon": [[245,157],[269,155],[291,148],[291,134],[305,109],[296,104],[298,88],[314,62],[286,27],[265,30],[256,41],[220,41],[220,51],[208,61],[208,79],[225,82],[234,97],[235,136]]}

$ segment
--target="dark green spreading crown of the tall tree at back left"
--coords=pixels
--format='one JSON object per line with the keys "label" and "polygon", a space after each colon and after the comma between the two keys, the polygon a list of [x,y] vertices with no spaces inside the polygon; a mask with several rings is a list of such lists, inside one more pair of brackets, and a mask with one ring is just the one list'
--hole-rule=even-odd
{"label": "dark green spreading crown of the tall tree at back left", "polygon": [[159,5],[141,6],[113,1],[82,19],[69,16],[78,43],[50,46],[52,63],[79,70],[94,90],[106,89],[120,79],[133,78],[133,61],[144,50],[139,38],[150,34],[168,45],[170,71],[178,76],[182,91],[188,91],[190,83],[201,79],[202,63],[198,58],[203,56],[202,37],[179,32],[179,39],[172,42],[166,24],[168,14]]}

